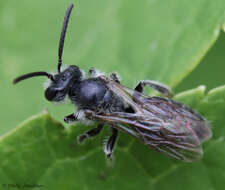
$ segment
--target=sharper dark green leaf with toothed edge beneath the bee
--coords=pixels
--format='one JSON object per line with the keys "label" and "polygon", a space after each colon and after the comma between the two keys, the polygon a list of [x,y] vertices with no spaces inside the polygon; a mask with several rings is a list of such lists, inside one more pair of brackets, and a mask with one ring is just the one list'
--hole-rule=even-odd
{"label": "sharper dark green leaf with toothed edge beneath the bee", "polygon": [[[213,126],[204,157],[195,163],[176,161],[120,134],[115,159],[107,162],[101,136],[74,144],[83,125],[64,128],[48,112],[30,118],[0,139],[2,184],[35,184],[43,189],[183,189],[222,190],[225,180],[225,86],[205,95],[200,86],[174,99],[188,103]],[[1,185],[1,184],[0,184]]]}

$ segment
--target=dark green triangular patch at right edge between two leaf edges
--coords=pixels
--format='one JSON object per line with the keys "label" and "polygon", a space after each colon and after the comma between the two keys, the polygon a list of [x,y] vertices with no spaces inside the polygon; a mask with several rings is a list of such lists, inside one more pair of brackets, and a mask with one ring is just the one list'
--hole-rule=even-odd
{"label": "dark green triangular patch at right edge between two leaf edges", "polygon": [[[176,88],[176,92],[195,88],[201,84],[208,89],[216,88],[225,83],[225,33],[222,32],[214,46],[202,59],[193,72],[190,73]],[[213,72],[212,72],[213,71]]]}

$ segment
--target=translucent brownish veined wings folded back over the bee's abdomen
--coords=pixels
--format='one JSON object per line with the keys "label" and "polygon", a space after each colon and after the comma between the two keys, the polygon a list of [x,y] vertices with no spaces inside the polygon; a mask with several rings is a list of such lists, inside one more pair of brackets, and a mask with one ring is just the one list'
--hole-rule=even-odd
{"label": "translucent brownish veined wings folded back over the bee's abdomen", "polygon": [[148,97],[113,81],[108,87],[131,106],[134,113],[88,113],[93,119],[122,130],[159,152],[187,162],[199,160],[202,142],[211,137],[208,122],[176,101]]}

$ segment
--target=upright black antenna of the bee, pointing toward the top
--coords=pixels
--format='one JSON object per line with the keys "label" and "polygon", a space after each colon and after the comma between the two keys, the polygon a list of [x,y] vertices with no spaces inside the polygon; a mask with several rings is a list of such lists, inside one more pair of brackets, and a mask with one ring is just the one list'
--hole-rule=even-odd
{"label": "upright black antenna of the bee, pointing toward the top", "polygon": [[66,29],[67,29],[70,13],[72,9],[73,9],[73,4],[70,4],[70,6],[66,10],[66,14],[63,21],[62,31],[61,31],[60,40],[59,40],[59,50],[58,50],[58,73],[60,73],[60,70],[61,70],[64,40],[65,40]]}

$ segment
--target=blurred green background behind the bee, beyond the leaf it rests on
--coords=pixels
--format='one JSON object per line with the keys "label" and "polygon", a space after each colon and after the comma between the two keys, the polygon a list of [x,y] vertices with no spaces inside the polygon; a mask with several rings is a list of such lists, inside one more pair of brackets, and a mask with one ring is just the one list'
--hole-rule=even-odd
{"label": "blurred green background behind the bee, beyond the leaf it rests on", "polygon": [[[44,99],[44,78],[12,85],[12,79],[18,75],[56,70],[61,24],[70,2],[0,2],[0,135],[45,108],[60,121],[74,110],[69,103],[58,106]],[[225,34],[221,32],[215,44],[218,34],[211,35],[211,29],[221,22],[217,18],[223,13],[223,1],[217,2],[220,8],[212,15],[207,15],[207,11],[211,14],[214,2],[206,4],[201,0],[196,1],[193,8],[191,3],[178,0],[173,1],[174,4],[160,4],[153,0],[142,3],[118,0],[73,2],[75,8],[68,28],[63,63],[76,64],[86,71],[90,67],[107,73],[117,71],[123,83],[130,87],[140,79],[160,80],[175,87],[184,74],[172,67],[171,70],[161,68],[170,62],[180,62],[182,70],[182,62],[199,62],[207,52],[201,64],[175,88],[175,92],[201,84],[207,85],[208,89],[224,84]],[[197,7],[201,4],[204,4],[204,9],[199,11]],[[190,15],[201,14],[209,17],[193,24]],[[210,30],[205,30],[210,27]],[[191,31],[195,32],[194,37]],[[177,35],[179,32],[182,35]],[[201,38],[204,35],[206,39]],[[193,42],[192,38],[195,38]],[[178,48],[171,53],[174,43]],[[186,46],[188,51],[182,54],[182,48]],[[191,71],[194,67],[190,64],[190,69],[186,70]],[[166,72],[173,76],[173,70],[177,77],[168,78]]]}

